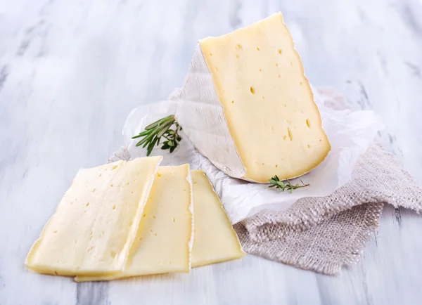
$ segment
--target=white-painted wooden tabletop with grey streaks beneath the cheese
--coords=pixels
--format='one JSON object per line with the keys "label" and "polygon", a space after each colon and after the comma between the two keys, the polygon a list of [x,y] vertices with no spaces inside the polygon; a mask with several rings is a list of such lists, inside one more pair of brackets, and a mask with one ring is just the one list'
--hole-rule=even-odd
{"label": "white-painted wooden tabletop with grey streaks beneath the cheese", "polygon": [[336,278],[252,256],[113,283],[23,265],[77,169],[120,147],[132,108],[181,85],[197,39],[276,11],[311,82],[376,110],[422,183],[421,1],[0,0],[1,305],[421,304],[422,217],[391,207]]}

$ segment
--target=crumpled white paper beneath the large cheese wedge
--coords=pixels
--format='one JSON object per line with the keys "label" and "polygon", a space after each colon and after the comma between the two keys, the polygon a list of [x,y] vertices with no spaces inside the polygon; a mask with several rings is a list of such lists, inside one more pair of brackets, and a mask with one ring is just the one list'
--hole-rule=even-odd
{"label": "crumpled white paper beneath the large cheese wedge", "polygon": [[[232,223],[238,223],[264,209],[283,211],[302,197],[330,195],[350,181],[357,159],[373,143],[376,133],[383,129],[383,124],[373,111],[328,108],[326,104],[330,103],[331,97],[325,95],[324,91],[316,89],[313,91],[316,105],[321,113],[323,128],[331,143],[331,151],[324,162],[300,177],[304,183],[309,184],[306,188],[288,193],[268,188],[268,184],[233,179],[203,157],[183,135],[183,131],[181,133],[183,139],[172,154],[156,146],[151,155],[163,155],[162,165],[189,163],[191,169],[205,171]],[[177,96],[177,93],[173,93],[168,100],[141,105],[129,114],[124,124],[123,136],[132,158],[146,156],[146,149],[136,147],[139,139],[132,140],[132,136],[139,134],[151,122],[174,114],[177,108],[174,96]],[[292,179],[290,182],[295,184],[300,183],[300,180]]]}

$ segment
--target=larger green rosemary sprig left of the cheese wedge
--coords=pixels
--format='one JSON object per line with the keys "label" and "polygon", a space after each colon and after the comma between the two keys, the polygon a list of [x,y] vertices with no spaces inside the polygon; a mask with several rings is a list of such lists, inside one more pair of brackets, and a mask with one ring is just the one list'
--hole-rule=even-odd
{"label": "larger green rosemary sprig left of the cheese wedge", "polygon": [[[175,125],[174,129],[170,129],[173,124]],[[163,117],[158,119],[158,121],[153,122],[145,127],[145,130],[142,131],[139,135],[133,136],[132,138],[141,138],[141,141],[136,143],[136,146],[141,146],[146,148],[146,155],[151,155],[155,145],[160,145],[161,138],[165,138],[166,141],[162,142],[162,150],[170,150],[170,153],[173,152],[179,142],[181,141],[181,136],[179,132],[181,131],[181,126],[176,122],[174,115],[169,115],[168,117]]]}

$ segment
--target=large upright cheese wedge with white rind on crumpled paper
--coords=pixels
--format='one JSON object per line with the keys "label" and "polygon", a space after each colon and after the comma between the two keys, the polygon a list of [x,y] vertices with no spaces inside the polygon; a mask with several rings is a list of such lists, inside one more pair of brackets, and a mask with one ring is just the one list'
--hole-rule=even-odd
{"label": "large upright cheese wedge with white rind on crumpled paper", "polygon": [[294,178],[331,149],[281,13],[200,40],[179,98],[184,133],[229,176]]}

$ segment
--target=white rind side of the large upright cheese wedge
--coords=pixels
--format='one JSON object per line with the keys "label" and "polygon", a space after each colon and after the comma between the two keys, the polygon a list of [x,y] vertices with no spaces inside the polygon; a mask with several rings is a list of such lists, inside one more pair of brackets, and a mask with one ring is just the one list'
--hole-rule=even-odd
{"label": "white rind side of the large upright cheese wedge", "polygon": [[196,149],[219,170],[234,178],[243,178],[243,166],[230,135],[212,74],[198,44],[179,96],[177,122]]}

